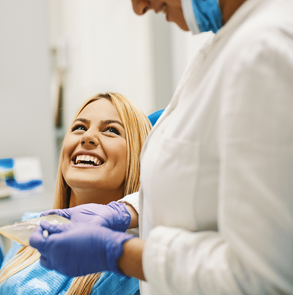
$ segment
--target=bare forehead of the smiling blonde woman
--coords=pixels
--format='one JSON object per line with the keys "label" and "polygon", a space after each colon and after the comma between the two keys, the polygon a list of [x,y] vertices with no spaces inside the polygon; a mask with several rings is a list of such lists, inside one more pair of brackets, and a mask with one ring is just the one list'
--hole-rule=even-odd
{"label": "bare forehead of the smiling blonde woman", "polygon": [[120,117],[114,107],[114,105],[107,99],[98,99],[89,105],[86,105],[84,109],[79,113],[77,118],[85,118],[90,120],[120,120]]}

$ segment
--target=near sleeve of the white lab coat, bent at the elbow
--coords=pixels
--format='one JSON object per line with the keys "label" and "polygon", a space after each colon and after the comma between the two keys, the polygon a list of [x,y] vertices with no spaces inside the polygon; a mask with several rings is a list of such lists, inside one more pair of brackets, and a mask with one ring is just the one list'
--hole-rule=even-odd
{"label": "near sleeve of the white lab coat, bent at the elbow", "polygon": [[[155,227],[152,295],[293,294],[293,44],[243,48],[221,77],[218,232]],[[180,212],[178,212],[180,214]]]}

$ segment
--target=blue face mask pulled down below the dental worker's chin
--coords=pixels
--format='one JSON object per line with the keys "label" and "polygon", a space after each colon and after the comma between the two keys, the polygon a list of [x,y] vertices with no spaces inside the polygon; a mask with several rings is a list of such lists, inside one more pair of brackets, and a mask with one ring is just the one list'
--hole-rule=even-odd
{"label": "blue face mask pulled down below the dental worker's chin", "polygon": [[181,0],[185,21],[193,34],[213,31],[222,26],[218,0]]}

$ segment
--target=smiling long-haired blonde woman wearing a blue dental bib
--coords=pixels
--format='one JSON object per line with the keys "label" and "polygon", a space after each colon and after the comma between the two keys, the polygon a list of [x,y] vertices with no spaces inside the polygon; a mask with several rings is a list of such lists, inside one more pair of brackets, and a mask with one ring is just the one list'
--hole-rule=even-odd
{"label": "smiling long-haired blonde woman wearing a blue dental bib", "polygon": [[[121,94],[86,101],[64,138],[53,208],[108,204],[137,191],[139,156],[149,130],[146,116]],[[136,280],[113,273],[71,278],[49,271],[40,265],[38,251],[19,248],[3,261],[0,294],[133,295],[138,290]]]}

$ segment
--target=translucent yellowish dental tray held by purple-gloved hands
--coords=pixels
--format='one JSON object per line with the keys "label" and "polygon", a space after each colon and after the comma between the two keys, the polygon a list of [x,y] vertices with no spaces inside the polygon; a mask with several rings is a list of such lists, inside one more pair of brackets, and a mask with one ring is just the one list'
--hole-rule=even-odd
{"label": "translucent yellowish dental tray held by purple-gloved hands", "polygon": [[29,246],[29,238],[35,231],[36,227],[40,225],[41,220],[45,220],[54,225],[72,223],[71,220],[65,217],[57,214],[50,214],[2,226],[0,227],[0,234],[23,246]]}

